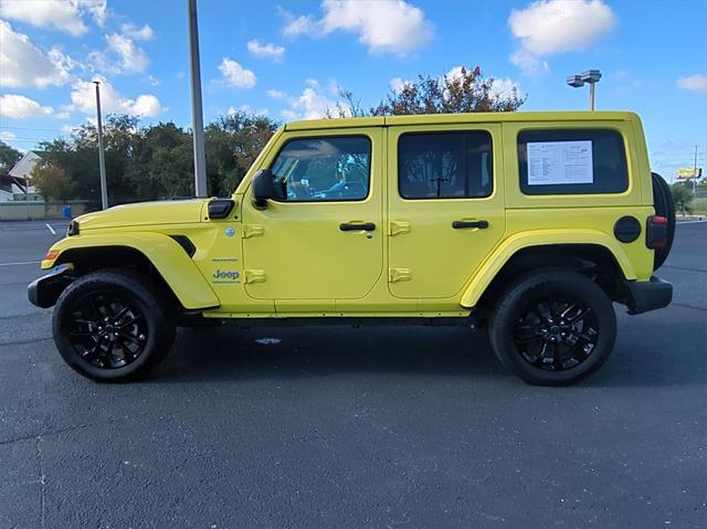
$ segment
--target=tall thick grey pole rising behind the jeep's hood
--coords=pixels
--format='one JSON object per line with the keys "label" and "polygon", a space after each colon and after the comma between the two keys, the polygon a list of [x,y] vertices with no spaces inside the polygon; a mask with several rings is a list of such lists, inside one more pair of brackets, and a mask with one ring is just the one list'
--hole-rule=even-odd
{"label": "tall thick grey pole rising behind the jeep's hood", "polygon": [[201,105],[201,65],[199,63],[199,28],[197,0],[189,3],[189,50],[191,53],[191,131],[194,141],[194,191],[207,197],[207,157],[203,148],[203,110]]}

